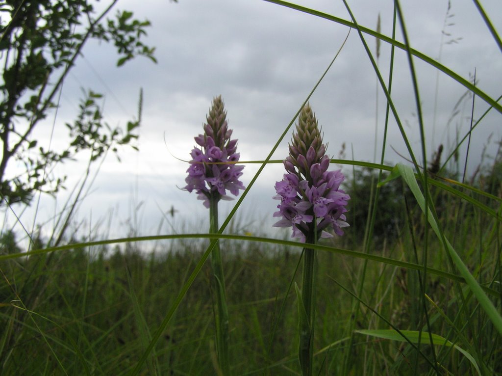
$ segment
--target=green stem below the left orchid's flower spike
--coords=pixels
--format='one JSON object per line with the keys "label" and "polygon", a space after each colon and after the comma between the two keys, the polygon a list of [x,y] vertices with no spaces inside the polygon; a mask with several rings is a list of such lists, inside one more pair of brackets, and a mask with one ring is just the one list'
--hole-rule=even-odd
{"label": "green stem below the left orchid's flower spike", "polygon": [[[218,233],[218,201],[220,197],[217,192],[212,193],[209,198],[209,232]],[[221,262],[221,252],[219,242],[216,242],[211,253],[211,265],[213,268],[214,281],[216,286],[216,298],[218,313],[216,317],[216,351],[218,353],[218,363],[221,374],[230,374],[230,360],[228,356],[228,309],[226,306],[225,276],[223,273],[223,263]]]}

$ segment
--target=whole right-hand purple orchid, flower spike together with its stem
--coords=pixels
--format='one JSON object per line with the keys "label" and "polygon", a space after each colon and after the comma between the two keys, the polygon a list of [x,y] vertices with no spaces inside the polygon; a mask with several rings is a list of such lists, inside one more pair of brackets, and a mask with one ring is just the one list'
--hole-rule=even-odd
{"label": "whole right-hand purple orchid, flower spike together with its stem", "polygon": [[313,374],[313,338],[315,321],[316,250],[312,247],[320,237],[331,237],[325,230],[332,228],[343,234],[345,208],[350,197],[340,189],[345,178],[341,170],[328,171],[326,145],[312,109],[307,104],[300,112],[296,133],[289,145],[289,156],[284,160],[287,173],[276,182],[281,200],[274,217],[281,219],[275,227],[293,227],[293,237],[305,242],[302,252],[302,290],[298,294],[299,345],[298,360],[303,376]]}

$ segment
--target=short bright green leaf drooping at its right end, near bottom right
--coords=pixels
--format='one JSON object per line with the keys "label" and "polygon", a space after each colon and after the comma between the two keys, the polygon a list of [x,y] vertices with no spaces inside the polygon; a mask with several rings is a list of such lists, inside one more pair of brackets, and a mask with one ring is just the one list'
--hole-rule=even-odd
{"label": "short bright green leaf drooping at its right end, near bottom right", "polygon": [[412,343],[419,343],[419,342],[426,343],[426,340],[431,338],[432,343],[434,345],[448,346],[448,347],[453,346],[453,348],[460,351],[467,359],[469,359],[474,368],[476,368],[477,373],[479,375],[481,374],[479,367],[476,363],[476,360],[471,354],[469,354],[461,347],[448,341],[446,338],[441,337],[440,335],[434,333],[429,334],[428,332],[419,332],[417,330],[401,330],[400,332],[398,332],[393,329],[366,329],[366,330],[355,330],[355,332],[363,335],[368,335],[371,337],[385,338],[385,339],[391,339],[393,341],[412,342]]}

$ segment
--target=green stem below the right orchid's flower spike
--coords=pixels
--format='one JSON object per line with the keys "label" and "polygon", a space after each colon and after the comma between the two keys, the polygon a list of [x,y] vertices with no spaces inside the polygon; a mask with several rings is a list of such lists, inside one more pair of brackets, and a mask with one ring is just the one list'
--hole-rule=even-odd
{"label": "green stem below the right orchid's flower spike", "polygon": [[[308,236],[305,242],[315,244],[315,231],[313,236]],[[316,251],[311,248],[303,250],[302,272],[302,304],[305,309],[306,320],[300,320],[300,345],[298,358],[303,376],[312,375],[313,344],[314,344],[314,321],[315,321],[315,285],[316,285]],[[304,321],[302,323],[302,321]]]}

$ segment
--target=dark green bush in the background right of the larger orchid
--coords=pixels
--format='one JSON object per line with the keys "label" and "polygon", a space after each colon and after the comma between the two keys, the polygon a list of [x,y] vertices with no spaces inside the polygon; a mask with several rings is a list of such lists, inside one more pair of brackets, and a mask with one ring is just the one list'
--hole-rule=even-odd
{"label": "dark green bush in the background right of the larger orchid", "polygon": [[[455,201],[454,196],[442,187],[432,184],[432,181],[437,180],[442,184],[451,186],[454,190],[459,190],[458,185],[451,182],[452,180],[458,180],[459,177],[458,174],[451,172],[445,167],[440,167],[442,152],[443,145],[439,145],[430,159],[427,173],[430,203],[438,219],[444,221],[446,224],[450,223],[453,216],[456,215],[455,209],[459,209],[458,201]],[[502,153],[497,152],[492,166],[483,166],[481,168],[483,171],[486,171],[484,174],[481,173],[477,178],[476,175],[473,175],[470,184],[473,186],[479,185],[483,191],[495,196],[499,195],[500,187],[502,186],[502,173],[500,172],[502,171],[502,157],[500,155]],[[386,182],[380,187],[370,239],[377,247],[382,245],[384,240],[392,241],[401,236],[403,232],[409,231],[409,225],[415,229],[415,236],[420,238],[424,234],[425,219],[423,218],[423,212],[410,192],[408,185],[401,178],[387,181],[387,176],[388,173],[385,172],[381,178],[381,181]],[[360,244],[362,239],[369,233],[369,212],[373,209],[378,182],[378,170],[362,168],[356,170],[353,179],[345,185],[345,190],[351,197],[347,220],[351,226],[350,233],[353,234],[357,244]],[[418,185],[423,192],[424,187],[420,181],[418,181]],[[484,200],[484,198],[477,199]],[[488,202],[486,204],[491,205]],[[472,210],[471,205],[462,207],[463,215],[466,216],[472,215]]]}

